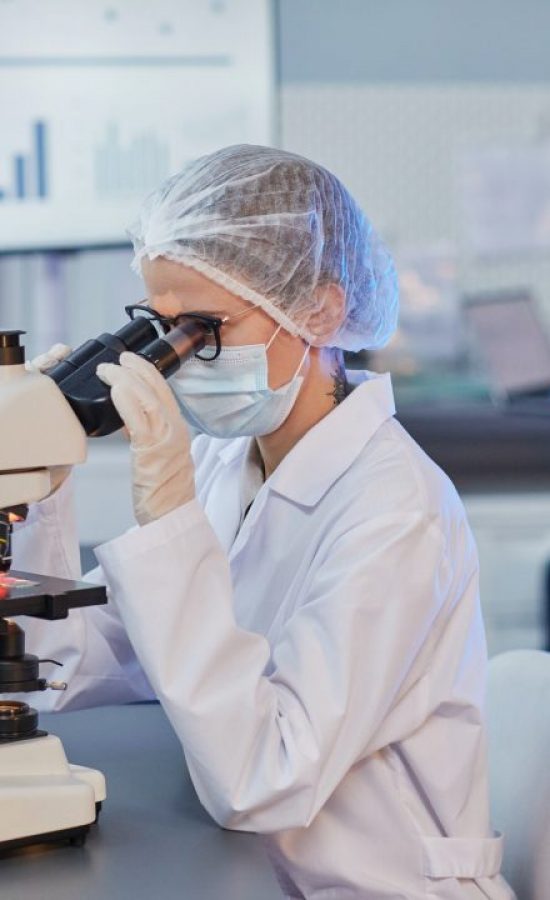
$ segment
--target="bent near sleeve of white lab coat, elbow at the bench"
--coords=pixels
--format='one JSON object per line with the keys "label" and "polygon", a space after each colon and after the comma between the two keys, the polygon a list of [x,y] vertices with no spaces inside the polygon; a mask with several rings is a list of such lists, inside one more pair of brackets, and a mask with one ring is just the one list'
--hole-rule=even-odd
{"label": "bent near sleeve of white lab coat, elbow at the bench", "polygon": [[445,595],[442,544],[420,513],[337,539],[273,648],[269,677],[269,644],[235,624],[228,561],[196,501],[99,548],[219,824],[307,826],[354,762],[374,752],[392,709],[400,707],[402,728],[422,721],[418,704],[406,721],[402,701]]}

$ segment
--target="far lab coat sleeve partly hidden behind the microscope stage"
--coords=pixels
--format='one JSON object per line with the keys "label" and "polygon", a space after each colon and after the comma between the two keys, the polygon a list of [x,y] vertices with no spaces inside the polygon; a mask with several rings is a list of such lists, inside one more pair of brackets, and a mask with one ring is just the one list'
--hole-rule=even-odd
{"label": "far lab coat sleeve partly hidden behind the microscope stage", "polygon": [[[16,526],[14,570],[79,579],[80,552],[71,479],[54,494],[29,509],[27,521]],[[98,567],[84,580],[105,584]],[[66,681],[66,691],[32,694],[40,711],[69,710],[154,697],[120,620],[112,598],[106,606],[70,610],[66,619],[47,622],[18,617],[25,630],[26,649],[44,663],[43,677]],[[23,695],[19,699],[25,699]]]}

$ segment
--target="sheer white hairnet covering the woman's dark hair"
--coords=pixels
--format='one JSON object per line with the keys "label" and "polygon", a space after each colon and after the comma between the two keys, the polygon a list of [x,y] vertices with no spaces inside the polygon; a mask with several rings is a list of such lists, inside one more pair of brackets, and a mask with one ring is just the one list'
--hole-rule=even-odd
{"label": "sheer white hairnet covering the woman's dark hair", "polygon": [[395,329],[390,254],[338,178],[301,156],[248,144],[203,156],[145,200],[129,235],[137,271],[144,256],[191,266],[311,343],[331,282],[346,311],[330,346],[380,347]]}

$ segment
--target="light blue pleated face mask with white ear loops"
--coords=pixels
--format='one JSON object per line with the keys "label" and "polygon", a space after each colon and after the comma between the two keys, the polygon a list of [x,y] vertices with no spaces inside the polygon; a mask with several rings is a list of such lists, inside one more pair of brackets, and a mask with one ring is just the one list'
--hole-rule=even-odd
{"label": "light blue pleated face mask with white ear loops", "polygon": [[180,409],[196,431],[212,437],[232,438],[271,434],[289,415],[302,386],[300,369],[277,390],[268,385],[267,345],[222,347],[213,362],[193,357],[183,363],[169,384]]}

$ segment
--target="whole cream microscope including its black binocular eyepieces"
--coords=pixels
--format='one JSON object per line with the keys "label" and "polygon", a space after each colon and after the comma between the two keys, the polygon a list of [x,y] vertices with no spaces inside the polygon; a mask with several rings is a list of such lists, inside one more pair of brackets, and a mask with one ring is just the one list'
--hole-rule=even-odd
{"label": "whole cream microscope including its black binocular eyepieces", "polygon": [[41,662],[57,661],[26,653],[13,618],[63,619],[71,609],[106,603],[105,588],[12,571],[14,525],[51,492],[55,467],[85,461],[88,436],[120,428],[97,365],[132,350],[169,377],[204,347],[207,331],[188,320],[159,338],[139,317],[86,342],[47,374],[25,367],[23,333],[0,330],[0,852],[45,841],[83,844],[106,796],[101,772],[71,765],[59,738],[39,729],[36,710],[11,699],[67,688],[40,677]]}

